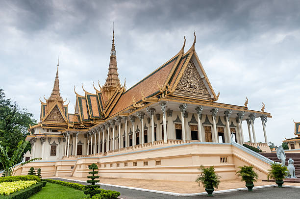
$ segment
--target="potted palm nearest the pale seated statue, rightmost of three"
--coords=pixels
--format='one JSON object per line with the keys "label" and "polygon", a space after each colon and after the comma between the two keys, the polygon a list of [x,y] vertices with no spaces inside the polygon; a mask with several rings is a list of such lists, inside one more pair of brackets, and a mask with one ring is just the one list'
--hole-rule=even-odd
{"label": "potted palm nearest the pale seated statue, rightmost of three", "polygon": [[280,162],[271,163],[271,169],[268,170],[268,180],[269,178],[274,178],[276,184],[279,188],[282,188],[283,178],[287,175],[287,167],[282,166]]}

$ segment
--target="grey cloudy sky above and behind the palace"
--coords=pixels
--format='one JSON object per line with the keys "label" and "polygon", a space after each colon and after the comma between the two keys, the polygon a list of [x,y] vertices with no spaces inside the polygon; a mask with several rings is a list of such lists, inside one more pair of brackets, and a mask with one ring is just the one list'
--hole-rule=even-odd
{"label": "grey cloudy sky above and behind the palace", "polygon": [[[74,112],[79,94],[107,75],[115,26],[119,77],[127,88],[174,56],[196,30],[196,51],[220,101],[260,110],[269,141],[294,137],[300,121],[300,1],[1,0],[0,88],[39,119],[59,56],[62,97]],[[245,122],[244,122],[245,123]],[[245,140],[249,140],[247,125]],[[260,119],[258,141],[264,141]]]}

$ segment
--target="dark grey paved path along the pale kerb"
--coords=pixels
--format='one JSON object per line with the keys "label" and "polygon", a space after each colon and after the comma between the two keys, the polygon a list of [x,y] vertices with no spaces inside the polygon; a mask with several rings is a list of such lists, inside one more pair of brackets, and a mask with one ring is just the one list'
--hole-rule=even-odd
{"label": "dark grey paved path along the pale kerb", "polygon": [[[74,182],[87,185],[85,182],[77,182],[73,180],[67,180],[62,178],[51,178],[56,180]],[[121,198],[124,199],[207,199],[206,195],[202,196],[171,196],[166,194],[159,194],[147,191],[132,190],[126,188],[119,188],[113,186],[101,185],[102,189],[109,189],[118,191],[121,193]],[[254,189],[253,192],[247,190],[227,192],[214,194],[214,199],[298,199],[300,189],[299,188],[281,188],[267,187],[261,189]]]}

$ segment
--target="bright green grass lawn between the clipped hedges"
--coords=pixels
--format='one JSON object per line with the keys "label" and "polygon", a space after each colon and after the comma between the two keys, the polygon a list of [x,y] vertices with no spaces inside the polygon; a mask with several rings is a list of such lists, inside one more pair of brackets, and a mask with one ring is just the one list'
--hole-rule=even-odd
{"label": "bright green grass lawn between the clipped hedges", "polygon": [[29,199],[82,199],[85,197],[83,191],[47,182],[40,192]]}

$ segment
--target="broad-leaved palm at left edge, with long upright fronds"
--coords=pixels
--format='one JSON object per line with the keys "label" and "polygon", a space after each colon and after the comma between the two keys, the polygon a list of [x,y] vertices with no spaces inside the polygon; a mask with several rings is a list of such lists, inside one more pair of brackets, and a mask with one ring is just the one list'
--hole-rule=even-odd
{"label": "broad-leaved palm at left edge, with long upright fronds", "polygon": [[[1,141],[0,141],[1,143]],[[4,149],[4,147],[1,146],[0,144],[0,163],[2,164],[3,168],[4,168],[4,176],[10,176],[10,175],[14,175],[15,174],[15,168],[17,165],[17,163],[20,161],[20,159],[22,158],[22,154],[25,150],[25,147],[27,146],[29,142],[28,141],[20,141],[18,143],[18,147],[17,149],[14,151],[13,155],[11,157],[8,157],[7,152],[8,152],[8,147],[6,147]],[[22,162],[18,168],[22,167],[23,165],[32,162],[34,160],[40,160],[42,158],[33,158],[30,159],[26,162]],[[17,169],[18,169],[17,168]]]}

